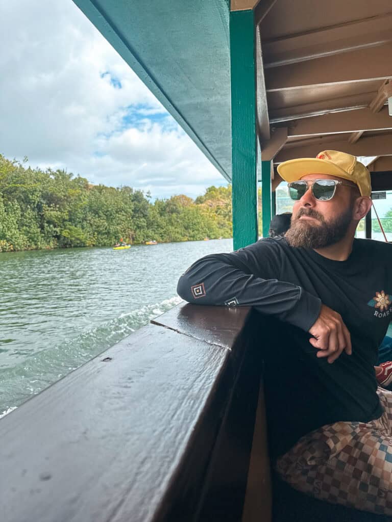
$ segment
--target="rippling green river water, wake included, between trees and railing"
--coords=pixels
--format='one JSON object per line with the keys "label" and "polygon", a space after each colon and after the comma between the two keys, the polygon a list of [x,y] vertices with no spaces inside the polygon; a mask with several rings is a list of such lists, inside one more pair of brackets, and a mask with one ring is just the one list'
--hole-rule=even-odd
{"label": "rippling green river water, wake included, between trees and railing", "polygon": [[231,239],[0,254],[0,414],[179,302],[177,280]]}

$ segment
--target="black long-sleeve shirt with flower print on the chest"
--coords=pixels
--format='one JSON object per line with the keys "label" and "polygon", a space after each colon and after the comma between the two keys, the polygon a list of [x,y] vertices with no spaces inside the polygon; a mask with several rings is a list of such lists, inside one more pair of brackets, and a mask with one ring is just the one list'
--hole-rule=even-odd
{"label": "black long-sleeve shirt with flower print on the chest", "polygon": [[[181,276],[177,291],[190,303],[250,305],[269,316],[260,347],[275,456],[324,424],[381,416],[374,365],[392,319],[391,268],[387,243],[355,239],[350,257],[335,261],[274,238],[205,256]],[[309,343],[321,303],[351,334],[352,355],[332,364]]]}

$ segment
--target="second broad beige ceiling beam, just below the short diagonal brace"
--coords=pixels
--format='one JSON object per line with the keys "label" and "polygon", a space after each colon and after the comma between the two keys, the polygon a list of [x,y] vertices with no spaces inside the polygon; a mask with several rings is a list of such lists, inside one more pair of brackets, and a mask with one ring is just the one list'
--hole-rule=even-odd
{"label": "second broad beige ceiling beam, just below the short diagonal brace", "polygon": [[359,109],[350,111],[350,114],[337,112],[295,120],[289,128],[289,137],[380,131],[383,129],[392,129],[392,117],[388,115],[387,107],[384,107],[378,113],[373,113],[370,109]]}

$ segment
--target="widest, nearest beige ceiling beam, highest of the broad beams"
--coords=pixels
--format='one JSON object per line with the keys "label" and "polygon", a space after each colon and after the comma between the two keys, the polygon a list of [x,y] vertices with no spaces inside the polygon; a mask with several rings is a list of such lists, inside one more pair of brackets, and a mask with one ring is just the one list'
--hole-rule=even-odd
{"label": "widest, nearest beige ceiling beam, highest of the broad beams", "polygon": [[391,56],[392,43],[389,43],[380,47],[267,69],[264,72],[267,92],[312,85],[387,79],[392,75]]}

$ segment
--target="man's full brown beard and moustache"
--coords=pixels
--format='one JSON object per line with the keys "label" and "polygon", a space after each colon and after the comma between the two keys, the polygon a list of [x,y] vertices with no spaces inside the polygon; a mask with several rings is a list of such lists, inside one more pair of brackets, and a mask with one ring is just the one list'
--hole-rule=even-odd
{"label": "man's full brown beard and moustache", "polygon": [[[309,216],[319,220],[320,224],[301,221],[301,216]],[[291,220],[291,227],[285,238],[290,246],[295,248],[324,248],[338,243],[347,234],[352,220],[351,206],[334,221],[327,222],[316,210],[300,208]]]}

